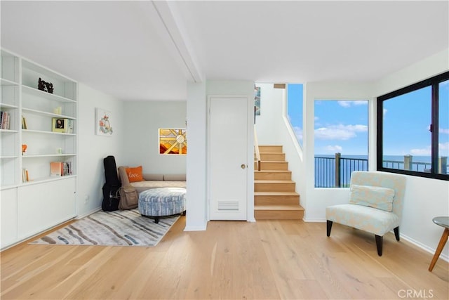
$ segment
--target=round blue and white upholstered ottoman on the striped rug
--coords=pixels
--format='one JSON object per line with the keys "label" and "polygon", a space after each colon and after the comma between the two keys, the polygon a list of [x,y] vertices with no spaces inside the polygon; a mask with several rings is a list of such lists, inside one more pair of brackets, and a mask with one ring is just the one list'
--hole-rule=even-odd
{"label": "round blue and white upholstered ottoman on the striped rug", "polygon": [[139,212],[142,216],[171,216],[185,211],[185,188],[152,188],[139,195]]}

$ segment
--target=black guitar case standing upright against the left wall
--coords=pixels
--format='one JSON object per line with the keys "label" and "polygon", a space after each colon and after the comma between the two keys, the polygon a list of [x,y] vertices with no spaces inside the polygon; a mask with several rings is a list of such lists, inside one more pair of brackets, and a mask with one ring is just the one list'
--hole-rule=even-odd
{"label": "black guitar case standing upright against the left wall", "polygon": [[121,183],[117,174],[117,166],[115,163],[115,157],[109,155],[103,159],[105,166],[105,179],[106,182],[103,185],[103,202],[101,208],[104,211],[114,211],[119,209],[120,193],[119,189]]}

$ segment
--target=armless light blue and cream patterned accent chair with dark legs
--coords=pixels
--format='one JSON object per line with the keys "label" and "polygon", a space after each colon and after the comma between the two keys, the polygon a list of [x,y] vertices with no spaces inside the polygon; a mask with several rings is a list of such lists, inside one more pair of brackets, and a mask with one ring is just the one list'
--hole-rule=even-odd
{"label": "armless light blue and cream patterned accent chair with dark legs", "polygon": [[406,176],[378,171],[353,171],[348,204],[326,207],[327,235],[333,222],[375,234],[382,256],[383,236],[394,230],[399,240]]}

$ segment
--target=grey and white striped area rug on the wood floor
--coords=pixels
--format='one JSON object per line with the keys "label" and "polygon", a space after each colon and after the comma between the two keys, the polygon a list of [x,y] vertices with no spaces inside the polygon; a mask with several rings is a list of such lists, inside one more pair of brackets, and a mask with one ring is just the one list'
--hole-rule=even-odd
{"label": "grey and white striped area rug on the wood floor", "polygon": [[154,247],[179,218],[161,216],[156,224],[138,209],[97,211],[30,244]]}

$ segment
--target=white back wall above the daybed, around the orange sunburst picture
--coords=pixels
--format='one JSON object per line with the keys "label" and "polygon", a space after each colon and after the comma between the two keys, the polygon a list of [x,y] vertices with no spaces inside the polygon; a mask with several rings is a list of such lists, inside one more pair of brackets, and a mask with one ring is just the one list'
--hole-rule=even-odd
{"label": "white back wall above the daybed, around the orange sunburst picture", "polygon": [[149,174],[186,174],[186,155],[159,154],[158,130],[186,128],[186,101],[125,101],[123,116],[126,134],[121,143],[121,164],[142,165],[143,172]]}

